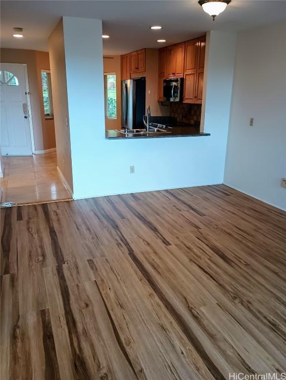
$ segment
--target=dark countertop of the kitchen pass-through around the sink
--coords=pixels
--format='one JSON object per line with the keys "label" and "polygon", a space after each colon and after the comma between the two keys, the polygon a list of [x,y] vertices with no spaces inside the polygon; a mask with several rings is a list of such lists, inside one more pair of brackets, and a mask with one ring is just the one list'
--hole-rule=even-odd
{"label": "dark countertop of the kitchen pass-through around the sink", "polygon": [[163,137],[199,137],[199,136],[210,136],[209,133],[199,132],[199,127],[194,127],[191,125],[173,125],[171,133],[152,133],[149,132],[148,136],[136,135],[136,136],[125,136],[120,132],[115,130],[105,131],[105,138],[109,140],[113,139],[150,139],[150,138],[163,138]]}

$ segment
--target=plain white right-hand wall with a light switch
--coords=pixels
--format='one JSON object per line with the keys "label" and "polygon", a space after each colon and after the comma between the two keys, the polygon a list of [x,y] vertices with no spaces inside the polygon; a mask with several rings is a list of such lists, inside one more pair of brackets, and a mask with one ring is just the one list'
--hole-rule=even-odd
{"label": "plain white right-hand wall with a light switch", "polygon": [[[249,119],[254,118],[253,127]],[[286,23],[238,34],[224,183],[286,210]]]}

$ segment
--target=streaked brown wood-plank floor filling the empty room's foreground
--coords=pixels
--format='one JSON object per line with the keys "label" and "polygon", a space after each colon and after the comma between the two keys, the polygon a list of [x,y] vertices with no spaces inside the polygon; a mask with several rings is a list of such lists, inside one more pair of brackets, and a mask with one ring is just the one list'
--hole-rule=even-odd
{"label": "streaked brown wood-plank floor filling the empty room's foreground", "polygon": [[1,210],[1,379],[285,371],[285,212],[223,185]]}

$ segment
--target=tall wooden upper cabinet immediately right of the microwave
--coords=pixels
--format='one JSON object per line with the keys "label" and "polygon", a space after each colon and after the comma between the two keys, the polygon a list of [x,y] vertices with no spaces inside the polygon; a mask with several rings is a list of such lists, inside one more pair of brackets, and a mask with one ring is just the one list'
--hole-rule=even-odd
{"label": "tall wooden upper cabinet immediately right of the microwave", "polygon": [[203,90],[205,36],[186,42],[184,103],[201,103]]}

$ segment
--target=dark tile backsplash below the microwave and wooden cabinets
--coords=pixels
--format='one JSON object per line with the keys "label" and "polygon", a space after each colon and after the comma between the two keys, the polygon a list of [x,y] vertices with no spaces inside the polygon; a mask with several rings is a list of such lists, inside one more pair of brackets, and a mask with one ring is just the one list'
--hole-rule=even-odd
{"label": "dark tile backsplash below the microwave and wooden cabinets", "polygon": [[170,102],[170,116],[176,117],[178,123],[199,124],[201,104]]}

